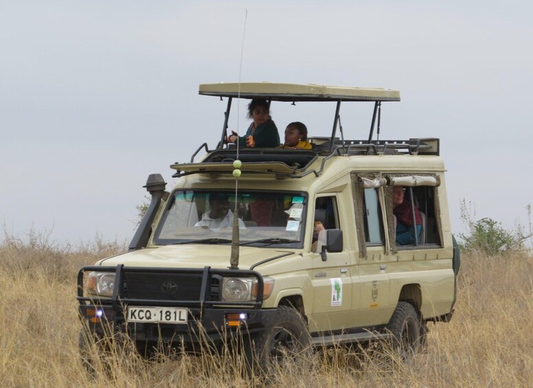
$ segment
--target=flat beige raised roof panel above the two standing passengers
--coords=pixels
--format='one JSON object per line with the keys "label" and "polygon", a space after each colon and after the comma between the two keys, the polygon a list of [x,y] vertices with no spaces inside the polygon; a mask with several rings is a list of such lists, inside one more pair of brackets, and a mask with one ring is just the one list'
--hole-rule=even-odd
{"label": "flat beige raised roof panel above the two standing passengers", "polygon": [[399,101],[400,92],[390,89],[335,87],[318,84],[274,82],[220,82],[200,84],[200,94],[219,97],[265,98],[273,101]]}

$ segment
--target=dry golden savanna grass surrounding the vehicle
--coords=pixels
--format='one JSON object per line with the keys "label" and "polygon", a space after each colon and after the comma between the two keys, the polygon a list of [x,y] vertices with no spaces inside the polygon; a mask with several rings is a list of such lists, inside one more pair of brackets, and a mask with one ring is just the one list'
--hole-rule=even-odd
{"label": "dry golden savanna grass surrounding the vehicle", "polygon": [[123,250],[96,238],[61,247],[47,236],[6,235],[0,244],[2,387],[530,387],[533,384],[533,258],[528,253],[462,255],[450,323],[429,324],[427,347],[412,362],[383,362],[346,350],[311,356],[271,380],[243,377],[235,357],[134,354],[108,372],[86,374],[78,355],[76,275],[84,264]]}

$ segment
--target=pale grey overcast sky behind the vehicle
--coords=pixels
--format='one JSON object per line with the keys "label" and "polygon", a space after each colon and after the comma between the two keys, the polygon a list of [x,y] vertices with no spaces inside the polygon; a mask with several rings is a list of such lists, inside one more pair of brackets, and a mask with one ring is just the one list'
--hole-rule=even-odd
{"label": "pale grey overcast sky behind the vehicle", "polygon": [[[441,139],[452,228],[463,198],[478,219],[529,228],[531,1],[0,0],[8,233],[130,240],[147,175],[171,183],[171,163],[220,139],[225,102],[198,84],[239,80],[245,10],[242,81],[398,89],[381,139]],[[343,106],[348,138],[366,137],[362,105]],[[331,133],[333,105],[287,109],[272,106],[280,133],[296,119]]]}

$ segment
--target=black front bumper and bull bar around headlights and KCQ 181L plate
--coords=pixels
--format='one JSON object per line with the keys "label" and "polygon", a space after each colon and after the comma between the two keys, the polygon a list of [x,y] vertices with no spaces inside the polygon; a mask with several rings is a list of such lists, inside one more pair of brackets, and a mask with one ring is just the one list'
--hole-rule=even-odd
{"label": "black front bumper and bull bar around headlights and KCQ 181L plate", "polygon": [[[115,286],[111,297],[96,297],[84,295],[85,274],[91,271],[115,273]],[[154,279],[164,277],[173,279],[173,276],[185,279],[193,277],[201,279],[200,287],[196,288],[198,297],[181,298],[171,297],[145,299],[130,297],[132,294],[128,286],[129,279]],[[252,277],[257,279],[257,296],[252,301],[222,301],[222,278],[223,277]],[[218,288],[216,283],[218,281]],[[215,285],[214,285],[215,284]],[[147,286],[150,288],[150,286]],[[181,268],[152,268],[133,267],[119,264],[117,266],[84,266],[78,273],[78,296],[80,317],[86,321],[88,327],[95,334],[106,332],[127,332],[128,336],[135,341],[170,341],[185,343],[198,343],[209,339],[217,341],[224,339],[228,330],[235,331],[237,328],[229,328],[226,314],[229,312],[242,313],[242,326],[246,334],[257,333],[272,324],[274,309],[262,309],[263,304],[263,277],[256,271],[211,269],[205,266],[203,269]],[[142,294],[142,293],[141,293]],[[178,295],[179,297],[180,295]],[[189,299],[189,300],[187,300]],[[193,300],[191,300],[193,299]],[[128,306],[147,307],[177,307],[187,308],[189,319],[187,323],[139,323],[126,320],[126,308]],[[93,319],[95,310],[99,310],[102,319]]]}

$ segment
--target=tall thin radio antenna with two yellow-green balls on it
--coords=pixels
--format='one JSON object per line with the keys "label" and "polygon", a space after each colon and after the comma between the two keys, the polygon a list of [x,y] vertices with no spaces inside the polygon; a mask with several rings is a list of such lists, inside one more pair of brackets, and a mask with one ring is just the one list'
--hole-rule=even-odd
{"label": "tall thin radio antenna with two yellow-green balls on it", "polygon": [[239,269],[239,212],[237,209],[237,188],[239,176],[241,176],[241,161],[239,160],[239,122],[241,119],[241,73],[242,73],[242,56],[244,52],[244,38],[246,36],[246,20],[248,19],[248,10],[244,9],[244,29],[242,32],[241,43],[241,60],[239,62],[239,87],[237,89],[237,157],[233,161],[233,176],[235,176],[235,209],[233,209],[233,233],[231,238],[231,255],[230,269]]}

